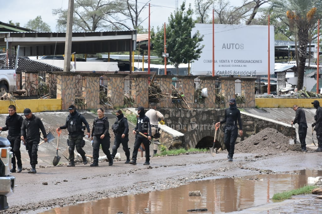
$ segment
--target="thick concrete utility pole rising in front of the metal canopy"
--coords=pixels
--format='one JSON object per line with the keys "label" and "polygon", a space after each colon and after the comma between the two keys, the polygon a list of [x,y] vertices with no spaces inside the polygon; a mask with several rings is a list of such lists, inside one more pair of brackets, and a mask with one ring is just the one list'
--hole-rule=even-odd
{"label": "thick concrete utility pole rising in front of the metal canopy", "polygon": [[64,71],[71,71],[71,38],[73,33],[74,0],[68,1],[67,28],[65,39]]}

